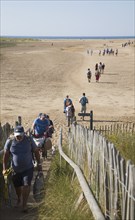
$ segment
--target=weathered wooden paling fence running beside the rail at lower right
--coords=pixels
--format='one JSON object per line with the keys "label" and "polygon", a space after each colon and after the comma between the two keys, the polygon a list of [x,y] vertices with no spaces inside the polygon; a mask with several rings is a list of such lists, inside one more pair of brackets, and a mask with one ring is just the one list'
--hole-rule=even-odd
{"label": "weathered wooden paling fence running beside the rail at lower right", "polygon": [[69,155],[81,168],[106,219],[135,219],[135,165],[99,132],[72,124]]}

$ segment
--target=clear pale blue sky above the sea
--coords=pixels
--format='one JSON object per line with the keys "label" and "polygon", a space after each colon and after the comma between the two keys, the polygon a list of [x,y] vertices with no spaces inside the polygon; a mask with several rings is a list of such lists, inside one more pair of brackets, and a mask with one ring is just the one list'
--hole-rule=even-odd
{"label": "clear pale blue sky above the sea", "polygon": [[1,36],[135,36],[135,0],[0,0]]}

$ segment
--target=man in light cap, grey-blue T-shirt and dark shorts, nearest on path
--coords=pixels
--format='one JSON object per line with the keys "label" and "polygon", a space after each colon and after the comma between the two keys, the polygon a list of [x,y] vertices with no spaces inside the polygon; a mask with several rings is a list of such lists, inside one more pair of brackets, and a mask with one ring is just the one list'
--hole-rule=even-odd
{"label": "man in light cap, grey-blue T-shirt and dark shorts, nearest on path", "polygon": [[22,126],[15,127],[14,137],[8,138],[4,146],[3,175],[6,173],[11,155],[12,180],[17,194],[17,206],[21,204],[22,199],[23,212],[27,212],[27,200],[33,178],[32,153],[35,154],[38,170],[42,171],[40,155],[35,142],[31,137],[25,135]]}

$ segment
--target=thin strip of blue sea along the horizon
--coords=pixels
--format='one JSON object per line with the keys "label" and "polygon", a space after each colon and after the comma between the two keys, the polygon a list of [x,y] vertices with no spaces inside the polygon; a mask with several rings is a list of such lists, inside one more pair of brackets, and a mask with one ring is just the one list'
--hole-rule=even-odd
{"label": "thin strip of blue sea along the horizon", "polygon": [[1,36],[4,38],[31,38],[40,40],[135,39],[135,36]]}

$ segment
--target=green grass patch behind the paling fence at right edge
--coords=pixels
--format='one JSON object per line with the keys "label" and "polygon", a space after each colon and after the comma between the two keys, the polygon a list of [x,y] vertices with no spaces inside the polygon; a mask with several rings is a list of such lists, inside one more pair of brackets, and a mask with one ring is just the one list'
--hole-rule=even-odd
{"label": "green grass patch behind the paling fence at right edge", "polygon": [[125,160],[131,160],[135,164],[135,133],[112,134],[107,139],[115,144]]}

